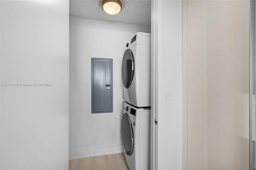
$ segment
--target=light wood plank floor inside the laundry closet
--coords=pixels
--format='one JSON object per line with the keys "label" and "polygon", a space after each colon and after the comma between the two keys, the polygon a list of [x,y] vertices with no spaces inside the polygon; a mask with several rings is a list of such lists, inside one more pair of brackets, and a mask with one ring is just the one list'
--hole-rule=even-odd
{"label": "light wood plank floor inside the laundry closet", "polygon": [[124,153],[69,160],[69,170],[129,170]]}

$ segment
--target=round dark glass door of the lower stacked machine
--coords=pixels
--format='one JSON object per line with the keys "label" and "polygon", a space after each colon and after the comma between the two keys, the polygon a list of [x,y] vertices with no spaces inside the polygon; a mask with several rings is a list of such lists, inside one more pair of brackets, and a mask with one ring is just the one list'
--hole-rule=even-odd
{"label": "round dark glass door of the lower stacked machine", "polygon": [[127,113],[124,113],[122,116],[122,139],[124,151],[130,156],[134,148],[134,136],[132,123]]}

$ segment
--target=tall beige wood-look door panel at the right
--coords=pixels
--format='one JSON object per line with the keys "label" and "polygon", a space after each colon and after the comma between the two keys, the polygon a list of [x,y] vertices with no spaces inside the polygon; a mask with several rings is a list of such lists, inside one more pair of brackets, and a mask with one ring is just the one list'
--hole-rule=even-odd
{"label": "tall beige wood-look door panel at the right", "polygon": [[249,169],[249,8],[184,1],[185,169]]}

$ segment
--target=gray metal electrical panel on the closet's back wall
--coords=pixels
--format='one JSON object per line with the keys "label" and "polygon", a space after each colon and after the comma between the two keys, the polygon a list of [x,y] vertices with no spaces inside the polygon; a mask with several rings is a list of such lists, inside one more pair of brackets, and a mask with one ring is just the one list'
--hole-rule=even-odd
{"label": "gray metal electrical panel on the closet's back wall", "polygon": [[92,58],[92,113],[113,112],[113,59]]}

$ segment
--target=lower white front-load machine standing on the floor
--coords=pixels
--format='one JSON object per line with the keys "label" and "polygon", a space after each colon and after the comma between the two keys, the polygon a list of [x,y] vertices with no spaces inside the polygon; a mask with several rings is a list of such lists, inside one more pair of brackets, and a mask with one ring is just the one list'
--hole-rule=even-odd
{"label": "lower white front-load machine standing on the floor", "polygon": [[122,116],[124,157],[130,170],[150,169],[150,107],[124,102]]}

